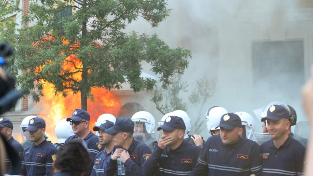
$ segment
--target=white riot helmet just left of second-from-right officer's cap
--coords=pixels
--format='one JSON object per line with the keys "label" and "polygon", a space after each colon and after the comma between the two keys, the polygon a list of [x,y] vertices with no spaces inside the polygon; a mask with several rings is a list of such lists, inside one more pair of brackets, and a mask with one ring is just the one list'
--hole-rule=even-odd
{"label": "white riot helmet just left of second-from-right officer's cap", "polygon": [[[217,126],[219,125],[219,122],[221,121],[221,117],[227,113],[228,111],[223,107],[219,107],[219,106],[211,107],[207,111],[207,113],[205,113],[205,120],[207,121],[208,130],[209,131],[219,130],[220,128]],[[217,128],[215,129],[215,127]]]}

